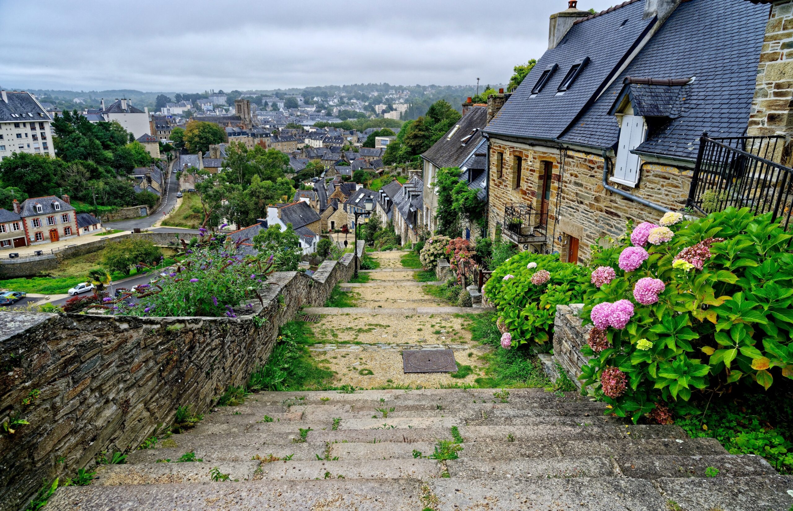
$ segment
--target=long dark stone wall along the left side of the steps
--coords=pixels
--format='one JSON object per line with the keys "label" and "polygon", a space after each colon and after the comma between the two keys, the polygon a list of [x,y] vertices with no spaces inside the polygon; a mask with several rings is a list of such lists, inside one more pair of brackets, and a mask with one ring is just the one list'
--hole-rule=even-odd
{"label": "long dark stone wall along the left side of the steps", "polygon": [[[19,509],[42,479],[74,475],[99,452],[136,448],[172,423],[178,406],[207,412],[267,360],[280,326],[350,279],[352,257],[325,261],[313,276],[271,275],[263,307],[254,303],[261,327],[251,316],[0,312],[0,422],[21,413],[30,423],[0,435],[0,509]],[[33,389],[40,394],[25,406]]]}

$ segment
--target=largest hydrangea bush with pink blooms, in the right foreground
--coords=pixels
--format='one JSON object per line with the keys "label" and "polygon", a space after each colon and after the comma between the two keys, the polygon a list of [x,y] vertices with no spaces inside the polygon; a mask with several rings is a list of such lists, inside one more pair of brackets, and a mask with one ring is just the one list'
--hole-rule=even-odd
{"label": "largest hydrangea bush with pink blooms, in the right foreground", "polygon": [[[793,378],[791,235],[747,208],[661,223],[672,235],[643,223],[634,246],[593,250],[592,266],[616,276],[586,284],[582,317],[606,339],[591,334],[581,350],[593,357],[584,384],[620,417],[668,421],[670,407],[695,411],[698,389]],[[636,246],[645,238],[648,250]]]}

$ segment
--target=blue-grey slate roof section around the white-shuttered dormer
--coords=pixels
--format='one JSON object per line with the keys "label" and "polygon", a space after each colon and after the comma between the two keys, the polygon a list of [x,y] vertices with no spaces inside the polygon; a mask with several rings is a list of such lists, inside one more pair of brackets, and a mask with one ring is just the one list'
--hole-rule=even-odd
{"label": "blue-grey slate roof section around the white-shuttered dormer", "polygon": [[685,86],[678,116],[651,132],[636,152],[693,160],[702,132],[719,137],[745,135],[767,21],[768,7],[743,0],[681,3],[623,74],[561,139],[596,147],[614,146],[619,125],[608,112],[628,76],[696,77]]}

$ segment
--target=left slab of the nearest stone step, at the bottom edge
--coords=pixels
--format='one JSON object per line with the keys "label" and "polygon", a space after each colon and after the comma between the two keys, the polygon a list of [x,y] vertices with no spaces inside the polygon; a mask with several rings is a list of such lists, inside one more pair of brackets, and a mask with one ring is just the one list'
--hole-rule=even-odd
{"label": "left slab of the nearest stone step, at the bottom edge", "polygon": [[416,511],[420,483],[408,479],[246,481],[149,486],[68,486],[47,511]]}

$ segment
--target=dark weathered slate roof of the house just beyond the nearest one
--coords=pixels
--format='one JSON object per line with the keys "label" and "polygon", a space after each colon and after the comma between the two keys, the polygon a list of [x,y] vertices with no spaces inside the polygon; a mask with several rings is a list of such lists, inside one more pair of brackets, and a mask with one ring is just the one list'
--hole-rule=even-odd
{"label": "dark weathered slate roof of the house just beyond the nearest one", "polygon": [[[482,139],[482,128],[488,122],[485,106],[469,107],[468,112],[421,157],[437,167],[460,167]],[[473,136],[471,136],[473,134]],[[466,137],[469,137],[466,139]],[[465,142],[463,139],[466,139]]]}

